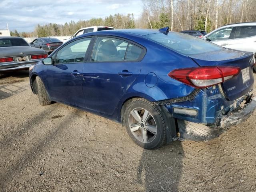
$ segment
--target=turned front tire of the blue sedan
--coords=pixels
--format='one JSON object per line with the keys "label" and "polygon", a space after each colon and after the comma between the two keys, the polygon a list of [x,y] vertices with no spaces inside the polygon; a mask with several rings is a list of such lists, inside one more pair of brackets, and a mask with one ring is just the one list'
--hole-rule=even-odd
{"label": "turned front tire of the blue sedan", "polygon": [[48,96],[48,93],[47,93],[45,87],[44,87],[44,83],[38,76],[36,76],[36,87],[37,87],[37,92],[38,92],[39,104],[42,106],[50,105],[51,100]]}

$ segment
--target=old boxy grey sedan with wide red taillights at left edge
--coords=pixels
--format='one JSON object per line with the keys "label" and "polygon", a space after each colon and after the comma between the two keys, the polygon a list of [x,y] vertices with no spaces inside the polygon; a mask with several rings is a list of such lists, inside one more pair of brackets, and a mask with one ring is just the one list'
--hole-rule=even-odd
{"label": "old boxy grey sedan with wide red taillights at left edge", "polygon": [[48,55],[22,37],[0,37],[0,72],[27,69]]}

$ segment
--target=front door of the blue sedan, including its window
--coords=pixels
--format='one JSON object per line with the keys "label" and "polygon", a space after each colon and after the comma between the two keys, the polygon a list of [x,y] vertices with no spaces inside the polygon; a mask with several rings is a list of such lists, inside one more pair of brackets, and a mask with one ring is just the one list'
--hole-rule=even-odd
{"label": "front door of the blue sedan, including its window", "polygon": [[48,66],[46,79],[53,99],[84,107],[82,72],[90,41],[91,38],[75,40],[54,55],[54,65]]}

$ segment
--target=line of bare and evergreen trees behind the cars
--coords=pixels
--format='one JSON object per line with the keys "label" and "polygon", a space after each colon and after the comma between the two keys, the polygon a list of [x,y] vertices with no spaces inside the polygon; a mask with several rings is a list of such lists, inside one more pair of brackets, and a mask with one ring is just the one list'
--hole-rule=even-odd
{"label": "line of bare and evergreen trees behind the cars", "polygon": [[88,26],[158,29],[170,26],[172,31],[205,30],[220,26],[256,21],[256,0],[142,0],[141,15],[114,14],[106,18],[70,21],[65,24],[49,23],[35,27],[34,32],[11,32],[12,36],[70,36]]}

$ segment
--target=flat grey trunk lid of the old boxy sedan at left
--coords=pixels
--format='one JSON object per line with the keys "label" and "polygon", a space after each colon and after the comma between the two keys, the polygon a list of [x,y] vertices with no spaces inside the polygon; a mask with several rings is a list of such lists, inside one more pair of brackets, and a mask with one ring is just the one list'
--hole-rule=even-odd
{"label": "flat grey trunk lid of the old boxy sedan at left", "polygon": [[[20,54],[23,53],[23,54]],[[18,47],[1,47],[0,48],[0,58],[1,57],[12,57],[12,56],[26,56],[34,54],[44,54],[44,50],[39,48],[34,48],[30,46],[18,46]]]}

